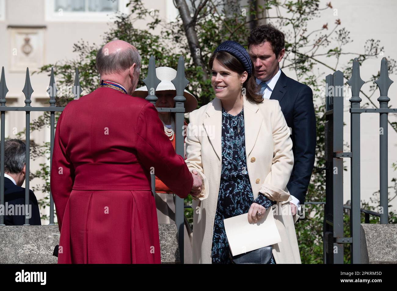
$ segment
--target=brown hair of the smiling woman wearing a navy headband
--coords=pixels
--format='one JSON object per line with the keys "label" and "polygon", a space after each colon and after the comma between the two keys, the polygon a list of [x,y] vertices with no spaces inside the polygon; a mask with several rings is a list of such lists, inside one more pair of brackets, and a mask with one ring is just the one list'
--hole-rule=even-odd
{"label": "brown hair of the smiling woman wearing a navy headband", "polygon": [[[243,74],[246,70],[243,67],[243,64],[231,55],[230,53],[226,51],[216,51],[215,53],[212,54],[210,61],[208,62],[208,65],[210,69],[212,70],[212,64],[214,63],[214,60],[217,60],[222,66],[225,68],[228,68],[229,70],[232,70],[233,72],[237,72],[237,74],[241,75]],[[254,66],[252,65],[251,72],[254,72]],[[249,100],[254,101],[256,103],[260,103],[263,101],[262,94],[260,93],[260,86],[256,83],[256,80],[254,76],[251,74],[251,76],[248,76],[247,80],[243,83],[243,88],[246,89],[246,96]]]}

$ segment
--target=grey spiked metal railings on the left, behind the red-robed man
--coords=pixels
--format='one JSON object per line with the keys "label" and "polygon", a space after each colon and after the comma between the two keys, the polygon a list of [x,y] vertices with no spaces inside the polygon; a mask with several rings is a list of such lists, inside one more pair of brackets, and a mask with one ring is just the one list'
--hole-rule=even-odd
{"label": "grey spiked metal railings on the left, behind the red-robed man", "polygon": [[[148,88],[148,96],[146,100],[155,104],[156,97],[156,87],[160,83],[160,80],[156,76],[156,65],[154,57],[151,56],[149,59],[148,75],[143,80],[146,87]],[[184,155],[184,145],[183,145],[183,121],[185,113],[185,101],[186,98],[183,96],[183,91],[189,81],[185,78],[185,64],[183,57],[179,57],[177,76],[172,83],[176,89],[176,96],[173,98],[175,101],[174,108],[156,108],[159,112],[175,112],[175,150],[176,153],[183,157]],[[40,111],[40,112],[50,112],[50,165],[52,165],[52,151],[54,146],[54,136],[55,136],[55,112],[62,112],[65,107],[55,106],[56,97],[56,83],[54,78],[54,70],[51,68],[50,74],[50,84],[48,87],[48,94],[50,95],[50,106],[49,107],[31,107],[31,95],[33,93],[33,88],[30,82],[29,68],[26,69],[26,79],[25,86],[23,87],[23,93],[25,94],[25,106],[24,107],[7,107],[6,106],[6,94],[8,88],[6,86],[6,79],[4,75],[4,67],[2,67],[1,79],[0,79],[0,112],[1,112],[1,135],[0,135],[0,205],[5,206],[4,202],[4,141],[5,139],[5,114],[7,111],[25,111],[26,112],[26,128],[25,128],[25,139],[26,139],[26,177],[25,177],[25,207],[29,205],[29,159],[30,159],[30,112]],[[79,82],[79,72],[76,68],[75,82],[73,86],[73,95],[75,99],[79,98],[82,93]],[[151,184],[152,193],[155,193],[155,174],[151,174]],[[175,201],[175,223],[178,231],[178,243],[179,243],[179,253],[180,260],[183,263],[184,249],[183,249],[183,227],[184,227],[184,204],[183,198],[176,197]],[[52,195],[50,193],[50,225],[54,224],[54,201],[52,200]],[[0,226],[4,226],[4,215],[0,215]],[[25,216],[25,224],[29,224],[29,218]]]}

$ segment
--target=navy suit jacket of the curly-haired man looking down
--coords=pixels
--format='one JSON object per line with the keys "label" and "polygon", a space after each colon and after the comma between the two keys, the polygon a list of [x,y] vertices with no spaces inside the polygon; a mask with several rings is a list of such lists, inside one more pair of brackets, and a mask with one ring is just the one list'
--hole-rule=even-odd
{"label": "navy suit jacket of the curly-haired man looking down", "polygon": [[285,76],[281,71],[270,99],[279,101],[287,125],[292,129],[294,167],[287,188],[303,204],[316,154],[313,92],[309,86]]}

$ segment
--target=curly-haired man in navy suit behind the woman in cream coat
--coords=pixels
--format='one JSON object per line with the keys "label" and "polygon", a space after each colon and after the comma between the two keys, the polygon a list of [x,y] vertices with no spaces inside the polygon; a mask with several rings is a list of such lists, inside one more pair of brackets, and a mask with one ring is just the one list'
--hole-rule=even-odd
{"label": "curly-haired man in navy suit behind the woman in cream coat", "polygon": [[292,196],[291,210],[304,204],[316,153],[316,116],[312,89],[285,76],[279,68],[284,56],[284,34],[272,25],[250,32],[248,48],[257,84],[264,98],[279,101],[293,142],[294,167],[287,184]]}

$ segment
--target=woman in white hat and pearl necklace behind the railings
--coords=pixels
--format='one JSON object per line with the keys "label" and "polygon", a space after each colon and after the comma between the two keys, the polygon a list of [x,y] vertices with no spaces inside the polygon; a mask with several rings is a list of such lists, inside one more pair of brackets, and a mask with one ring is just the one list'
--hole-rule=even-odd
{"label": "woman in white hat and pearl necklace behind the railings", "polygon": [[[156,107],[172,108],[175,106],[173,98],[176,95],[176,90],[171,80],[176,77],[176,73],[176,70],[170,67],[156,68],[156,76],[161,80],[156,88],[156,97],[158,98]],[[147,95],[148,90],[146,86],[136,89],[133,93],[133,96],[142,98],[145,98]],[[185,113],[195,110],[197,99],[187,90],[185,90],[184,96],[186,98]],[[175,113],[158,112],[158,117],[164,125],[164,133],[169,137],[175,148]],[[187,127],[187,123],[184,122],[184,124]],[[156,208],[159,224],[175,224],[175,201],[172,194],[172,191],[156,177]]]}

